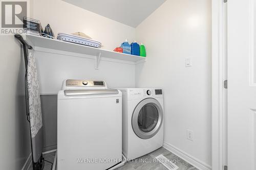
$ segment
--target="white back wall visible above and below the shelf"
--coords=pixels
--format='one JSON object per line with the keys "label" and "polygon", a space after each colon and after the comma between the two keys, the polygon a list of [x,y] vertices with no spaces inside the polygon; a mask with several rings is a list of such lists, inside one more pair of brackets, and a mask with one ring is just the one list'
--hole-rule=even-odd
{"label": "white back wall visible above and below the shelf", "polygon": [[[50,4],[47,11],[46,8],[42,8],[45,4]],[[126,38],[132,41],[135,37],[135,28],[61,0],[34,1],[33,18],[39,19],[43,27],[49,23],[55,36],[58,32],[83,32],[101,41],[102,48],[108,50],[114,50]],[[99,70],[95,70],[92,59],[44,52],[36,52],[34,56],[42,94],[56,94],[66,78],[103,79],[109,87],[135,87],[135,65],[101,61]]]}

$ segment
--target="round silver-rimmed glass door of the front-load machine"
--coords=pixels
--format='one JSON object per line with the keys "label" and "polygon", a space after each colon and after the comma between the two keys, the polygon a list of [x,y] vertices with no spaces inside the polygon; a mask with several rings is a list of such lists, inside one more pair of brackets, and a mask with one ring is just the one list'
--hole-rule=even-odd
{"label": "round silver-rimmed glass door of the front-load machine", "polygon": [[135,134],[142,139],[150,139],[157,134],[163,122],[163,109],[160,103],[152,98],[141,101],[132,116],[132,127]]}

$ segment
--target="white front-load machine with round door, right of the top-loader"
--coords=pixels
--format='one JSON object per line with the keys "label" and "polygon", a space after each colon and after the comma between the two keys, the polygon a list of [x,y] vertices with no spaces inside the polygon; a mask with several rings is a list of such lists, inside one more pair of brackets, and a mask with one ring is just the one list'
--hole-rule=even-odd
{"label": "white front-load machine with round door, right of the top-loader", "polygon": [[163,93],[154,88],[122,88],[122,152],[136,159],[163,145]]}

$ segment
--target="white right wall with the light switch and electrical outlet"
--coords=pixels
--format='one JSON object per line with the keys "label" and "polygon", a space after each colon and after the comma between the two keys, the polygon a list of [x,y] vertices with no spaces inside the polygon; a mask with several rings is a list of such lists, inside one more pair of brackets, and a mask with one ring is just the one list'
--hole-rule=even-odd
{"label": "white right wall with the light switch and electrical outlet", "polygon": [[[137,87],[162,87],[164,142],[211,166],[210,0],[168,0],[136,29],[147,62],[136,66]],[[184,67],[190,57],[192,67]],[[186,130],[194,131],[194,141]]]}

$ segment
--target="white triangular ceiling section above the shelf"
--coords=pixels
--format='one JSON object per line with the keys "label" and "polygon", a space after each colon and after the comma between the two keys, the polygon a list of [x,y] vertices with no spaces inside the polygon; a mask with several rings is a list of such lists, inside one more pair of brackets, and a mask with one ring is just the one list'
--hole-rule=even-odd
{"label": "white triangular ceiling section above the shelf", "polygon": [[62,0],[136,28],[166,0]]}

